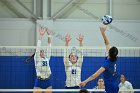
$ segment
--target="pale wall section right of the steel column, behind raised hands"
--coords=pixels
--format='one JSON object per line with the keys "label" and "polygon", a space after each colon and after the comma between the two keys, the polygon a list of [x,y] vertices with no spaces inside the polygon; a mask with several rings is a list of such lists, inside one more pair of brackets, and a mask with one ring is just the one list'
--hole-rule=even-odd
{"label": "pale wall section right of the steel column, behind raised hands", "polygon": [[[80,21],[80,20],[56,20],[54,22],[38,21],[38,24],[46,25],[53,32],[53,45],[63,46],[64,36],[69,33],[72,37],[70,45],[77,46],[76,37],[79,33],[84,35],[85,46],[104,46],[102,36],[99,31],[100,22],[97,21]],[[52,24],[52,25],[51,25]],[[118,30],[107,29],[107,36],[110,44],[119,47],[140,47],[140,21],[113,21],[113,26]],[[38,26],[39,27],[39,26]],[[130,37],[130,35],[132,36]],[[37,32],[37,38],[39,32]],[[136,40],[137,39],[137,40]],[[46,45],[45,37],[43,45]]]}

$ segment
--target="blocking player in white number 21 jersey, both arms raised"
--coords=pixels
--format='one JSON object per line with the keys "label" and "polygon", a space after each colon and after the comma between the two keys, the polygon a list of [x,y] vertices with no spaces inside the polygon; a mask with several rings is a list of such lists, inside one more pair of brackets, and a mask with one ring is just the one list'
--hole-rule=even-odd
{"label": "blocking player in white number 21 jersey, both arms raised", "polygon": [[[76,52],[68,53],[68,45],[71,40],[70,35],[65,36],[65,46],[66,46],[66,53],[64,55],[64,65],[66,71],[66,89],[80,89],[79,83],[81,82],[81,66],[83,62],[83,55],[82,55],[82,46],[83,46],[83,35],[79,35],[77,40],[79,41],[80,45],[80,56],[76,54]],[[70,92],[69,92],[70,93]]]}

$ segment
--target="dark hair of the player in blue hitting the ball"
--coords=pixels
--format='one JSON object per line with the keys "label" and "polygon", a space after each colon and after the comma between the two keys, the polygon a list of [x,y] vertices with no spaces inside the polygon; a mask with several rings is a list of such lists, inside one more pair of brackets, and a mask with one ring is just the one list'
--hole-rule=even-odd
{"label": "dark hair of the player in blue hitting the ball", "polygon": [[111,47],[109,49],[109,57],[111,62],[117,61],[118,49],[116,47]]}

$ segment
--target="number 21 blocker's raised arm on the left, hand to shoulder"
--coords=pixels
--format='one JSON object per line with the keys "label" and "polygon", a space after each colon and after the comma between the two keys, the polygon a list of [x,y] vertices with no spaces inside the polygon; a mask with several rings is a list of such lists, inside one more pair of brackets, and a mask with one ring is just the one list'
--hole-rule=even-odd
{"label": "number 21 blocker's raised arm on the left, hand to shoulder", "polygon": [[65,64],[65,68],[67,68],[68,66],[68,61],[69,61],[69,54],[68,54],[68,46],[69,46],[69,42],[71,40],[71,37],[69,34],[66,34],[65,36],[65,52],[64,52],[64,64]]}

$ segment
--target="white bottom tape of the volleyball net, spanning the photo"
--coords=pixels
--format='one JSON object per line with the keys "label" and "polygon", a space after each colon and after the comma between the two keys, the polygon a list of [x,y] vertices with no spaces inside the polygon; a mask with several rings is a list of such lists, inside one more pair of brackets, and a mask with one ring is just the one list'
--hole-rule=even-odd
{"label": "white bottom tape of the volleyball net, spanning the photo", "polygon": [[[55,93],[65,93],[65,92],[79,92],[81,89],[0,89],[0,92],[55,92]],[[89,93],[105,93],[104,89],[86,89]],[[140,89],[127,89],[119,90],[119,92],[125,93],[140,93]],[[87,93],[87,92],[80,92]]]}

